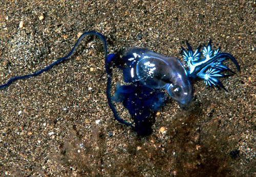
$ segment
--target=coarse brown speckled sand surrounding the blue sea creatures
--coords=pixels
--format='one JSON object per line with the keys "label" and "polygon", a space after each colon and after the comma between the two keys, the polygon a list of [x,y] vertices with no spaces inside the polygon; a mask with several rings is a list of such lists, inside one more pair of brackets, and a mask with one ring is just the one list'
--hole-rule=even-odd
{"label": "coarse brown speckled sand surrounding the blue sea creatures", "polygon": [[1,83],[65,56],[91,30],[109,53],[139,46],[180,60],[186,40],[196,49],[211,39],[241,67],[222,80],[228,92],[193,83],[191,108],[169,100],[139,137],[114,120],[103,47],[88,37],[69,60],[0,90],[1,176],[255,176],[256,4],[239,2],[0,2]]}

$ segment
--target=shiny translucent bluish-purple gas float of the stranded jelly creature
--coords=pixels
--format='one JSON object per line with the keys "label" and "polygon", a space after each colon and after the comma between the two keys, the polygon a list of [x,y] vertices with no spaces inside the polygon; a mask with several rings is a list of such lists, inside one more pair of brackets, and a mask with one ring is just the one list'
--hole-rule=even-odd
{"label": "shiny translucent bluish-purple gas float of the stranded jelly creature", "polygon": [[187,72],[175,57],[165,57],[145,48],[129,48],[123,57],[128,68],[124,69],[124,81],[140,81],[152,89],[165,89],[181,107],[192,98],[192,88]]}

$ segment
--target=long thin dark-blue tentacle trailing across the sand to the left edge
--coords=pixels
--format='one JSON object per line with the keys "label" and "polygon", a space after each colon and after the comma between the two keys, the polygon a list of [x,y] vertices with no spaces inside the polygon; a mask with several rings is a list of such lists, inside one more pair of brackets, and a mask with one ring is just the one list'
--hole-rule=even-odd
{"label": "long thin dark-blue tentacle trailing across the sand to the left edge", "polygon": [[[62,57],[62,58],[60,58],[60,59],[54,61],[54,62],[53,62],[52,64],[50,64],[49,66],[46,66],[44,69],[41,69],[41,70],[39,70],[39,71],[36,71],[36,72],[34,72],[34,73],[32,73],[32,74],[27,74],[27,75],[22,75],[22,76],[13,77],[13,78],[11,78],[6,84],[1,85],[1,86],[0,86],[0,89],[3,89],[3,88],[5,88],[5,87],[8,87],[10,84],[12,84],[12,83],[13,83],[14,81],[16,81],[16,80],[21,80],[21,79],[27,79],[27,78],[30,78],[30,77],[35,77],[35,76],[41,74],[42,72],[47,71],[48,69],[50,69],[50,68],[53,67],[54,65],[56,65],[56,64],[58,64],[58,63],[60,63],[60,62],[62,62],[62,61],[64,61],[64,60],[66,60],[66,59],[68,59],[68,58],[74,53],[75,48],[78,46],[78,44],[81,42],[81,40],[82,40],[84,37],[89,36],[89,35],[97,36],[97,37],[102,41],[102,43],[103,43],[104,52],[105,52],[105,69],[106,69],[106,73],[107,73],[107,76],[108,76],[107,86],[106,86],[106,97],[107,97],[107,99],[108,99],[109,106],[110,106],[110,108],[111,108],[111,110],[112,110],[112,112],[113,112],[113,114],[114,114],[114,117],[115,117],[115,119],[118,120],[120,123],[123,123],[123,124],[125,124],[125,125],[127,125],[127,126],[130,126],[130,127],[132,127],[132,128],[134,129],[134,126],[133,126],[131,123],[129,123],[129,122],[127,122],[127,121],[121,119],[121,118],[118,116],[117,111],[116,111],[116,109],[115,109],[115,107],[114,107],[114,105],[113,105],[113,103],[112,103],[112,98],[111,98],[111,72],[110,72],[110,68],[109,68],[109,63],[110,63],[111,61],[108,60],[108,48],[107,48],[107,46],[106,46],[105,37],[104,37],[102,34],[100,34],[100,33],[98,33],[98,32],[95,32],[95,31],[90,31],[90,32],[85,32],[85,33],[83,33],[83,34],[78,38],[78,40],[76,41],[75,45],[73,46],[73,48],[72,48],[71,51],[69,52],[69,54],[66,55],[65,57]],[[112,55],[113,55],[113,54],[111,54],[111,56],[112,56]]]}

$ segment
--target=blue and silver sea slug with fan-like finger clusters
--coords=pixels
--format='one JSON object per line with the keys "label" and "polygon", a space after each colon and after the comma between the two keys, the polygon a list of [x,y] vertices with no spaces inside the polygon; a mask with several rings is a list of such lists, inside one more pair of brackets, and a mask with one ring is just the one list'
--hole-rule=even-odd
{"label": "blue and silver sea slug with fan-like finger clusters", "polygon": [[[234,63],[234,65],[236,65],[238,72],[240,72],[240,66],[237,60],[228,53],[220,53],[220,48],[215,51],[212,50],[211,40],[209,41],[207,46],[204,45],[202,53],[199,52],[199,49],[200,47],[196,50],[195,53],[193,53],[193,50],[188,43],[188,52],[186,52],[186,50],[182,48],[182,57],[187,63],[189,77],[191,79],[203,79],[205,84],[210,87],[215,86],[219,89],[222,88],[226,90],[223,84],[217,78],[227,78],[235,74],[236,72],[232,71],[230,68],[222,64],[222,62],[230,59]],[[221,73],[225,71],[229,71],[231,72],[231,74]]]}

